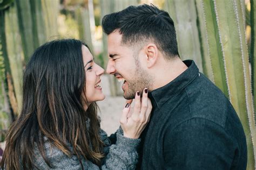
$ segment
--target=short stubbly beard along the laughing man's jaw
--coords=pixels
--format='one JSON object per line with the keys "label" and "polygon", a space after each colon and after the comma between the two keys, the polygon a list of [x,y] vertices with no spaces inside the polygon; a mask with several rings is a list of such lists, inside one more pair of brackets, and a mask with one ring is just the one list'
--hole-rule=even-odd
{"label": "short stubbly beard along the laughing man's jaw", "polygon": [[136,72],[133,76],[132,80],[126,80],[128,84],[128,89],[124,91],[124,98],[126,100],[130,100],[135,97],[136,92],[140,91],[140,95],[143,94],[144,88],[151,88],[151,84],[153,82],[152,76],[146,72],[143,68],[140,67],[140,64],[137,63]]}

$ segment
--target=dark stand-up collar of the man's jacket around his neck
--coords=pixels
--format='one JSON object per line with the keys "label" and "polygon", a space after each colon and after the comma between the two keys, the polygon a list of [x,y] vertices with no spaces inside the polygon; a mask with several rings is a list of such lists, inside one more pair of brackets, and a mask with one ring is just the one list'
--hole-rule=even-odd
{"label": "dark stand-up collar of the man's jacket around his neck", "polygon": [[149,93],[154,108],[161,107],[167,100],[173,98],[181,90],[183,90],[188,84],[190,84],[197,76],[199,76],[199,69],[193,60],[183,61],[188,67],[183,73],[181,73],[176,79],[167,83],[165,86],[155,89]]}

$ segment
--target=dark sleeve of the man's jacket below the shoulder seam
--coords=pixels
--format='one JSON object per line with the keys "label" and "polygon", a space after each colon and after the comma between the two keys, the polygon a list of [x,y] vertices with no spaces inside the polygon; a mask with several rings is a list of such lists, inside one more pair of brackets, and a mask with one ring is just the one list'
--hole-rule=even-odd
{"label": "dark sleeve of the man's jacket below the shoulder seam", "polygon": [[224,127],[192,118],[166,133],[163,152],[166,169],[232,169],[239,149]]}

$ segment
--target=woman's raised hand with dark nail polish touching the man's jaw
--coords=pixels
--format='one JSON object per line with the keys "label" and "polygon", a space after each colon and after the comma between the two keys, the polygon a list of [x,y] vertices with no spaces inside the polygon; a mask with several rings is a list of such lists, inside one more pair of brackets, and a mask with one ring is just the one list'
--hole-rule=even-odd
{"label": "woman's raised hand with dark nail polish touching the man's jaw", "polygon": [[152,104],[147,97],[147,89],[143,90],[142,100],[140,100],[140,95],[139,91],[137,91],[134,99],[134,108],[131,108],[132,100],[126,102],[120,118],[124,136],[127,138],[139,138],[147,123],[149,123]]}

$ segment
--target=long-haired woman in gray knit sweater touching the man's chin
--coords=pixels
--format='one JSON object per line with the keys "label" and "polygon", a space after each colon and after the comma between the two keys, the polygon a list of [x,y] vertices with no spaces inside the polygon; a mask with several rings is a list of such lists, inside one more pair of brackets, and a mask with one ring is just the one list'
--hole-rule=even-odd
{"label": "long-haired woman in gray knit sweater touching the man's chin", "polygon": [[152,108],[147,89],[142,94],[146,109],[140,110],[139,93],[134,110],[127,101],[120,120],[123,130],[111,145],[99,127],[95,103],[105,98],[103,73],[79,40],[55,40],[39,47],[24,72],[23,106],[6,137],[2,168],[134,168],[138,137]]}

